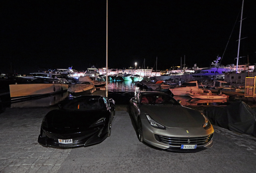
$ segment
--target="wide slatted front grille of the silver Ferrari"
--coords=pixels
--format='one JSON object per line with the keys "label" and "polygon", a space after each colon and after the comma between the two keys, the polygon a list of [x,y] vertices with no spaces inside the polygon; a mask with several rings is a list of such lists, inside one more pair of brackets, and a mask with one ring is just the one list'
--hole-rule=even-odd
{"label": "wide slatted front grille of the silver Ferrari", "polygon": [[212,135],[205,137],[167,137],[162,135],[155,135],[155,139],[161,143],[169,146],[180,147],[181,145],[205,145],[213,138]]}

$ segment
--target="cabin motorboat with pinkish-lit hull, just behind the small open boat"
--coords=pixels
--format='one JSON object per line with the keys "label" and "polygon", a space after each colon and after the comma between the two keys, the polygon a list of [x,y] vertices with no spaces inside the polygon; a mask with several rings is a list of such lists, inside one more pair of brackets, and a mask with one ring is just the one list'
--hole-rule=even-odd
{"label": "cabin motorboat with pinkish-lit hull, just behind the small open boat", "polygon": [[187,96],[188,93],[203,93],[203,89],[198,88],[198,83],[196,80],[183,82],[182,85],[173,87],[169,89],[171,93],[175,96]]}

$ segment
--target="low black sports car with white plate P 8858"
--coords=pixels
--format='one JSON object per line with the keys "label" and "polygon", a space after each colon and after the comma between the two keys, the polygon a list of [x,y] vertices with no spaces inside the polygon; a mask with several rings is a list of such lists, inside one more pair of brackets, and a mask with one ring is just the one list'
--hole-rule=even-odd
{"label": "low black sports car with white plate P 8858", "polygon": [[43,118],[38,143],[50,147],[76,147],[100,143],[111,134],[115,101],[83,95],[60,105]]}

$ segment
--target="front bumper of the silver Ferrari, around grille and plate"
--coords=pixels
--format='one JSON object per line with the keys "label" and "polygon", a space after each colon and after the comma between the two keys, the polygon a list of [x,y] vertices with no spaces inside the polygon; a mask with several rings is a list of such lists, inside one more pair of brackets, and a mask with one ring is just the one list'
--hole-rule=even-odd
{"label": "front bumper of the silver Ferrari, around grille and plate", "polygon": [[[210,129],[198,128],[166,128],[157,129],[152,127],[147,119],[141,119],[143,140],[161,149],[174,150],[174,151],[197,151],[213,146],[213,127]],[[159,139],[159,137],[167,138],[167,142]],[[175,139],[173,141],[173,138]],[[204,140],[203,143],[197,143],[196,140]],[[168,143],[168,144],[167,144]],[[181,145],[197,145],[196,149],[181,149]]]}

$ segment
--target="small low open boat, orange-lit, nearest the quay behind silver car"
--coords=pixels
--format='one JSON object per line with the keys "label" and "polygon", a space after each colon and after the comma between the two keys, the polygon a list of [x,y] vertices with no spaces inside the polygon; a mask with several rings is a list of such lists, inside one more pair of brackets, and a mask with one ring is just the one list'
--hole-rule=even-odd
{"label": "small low open boat, orange-lit, nearest the quay behind silver car", "polygon": [[228,99],[229,96],[225,94],[212,93],[210,90],[204,93],[188,93],[192,99]]}

